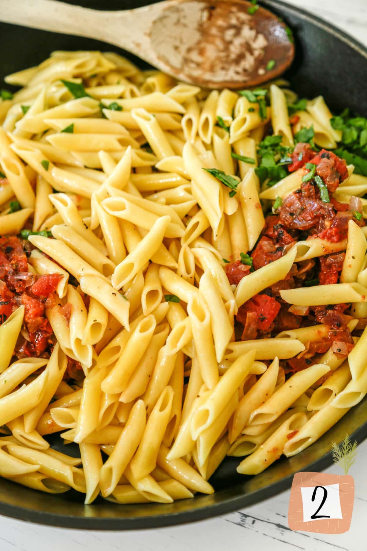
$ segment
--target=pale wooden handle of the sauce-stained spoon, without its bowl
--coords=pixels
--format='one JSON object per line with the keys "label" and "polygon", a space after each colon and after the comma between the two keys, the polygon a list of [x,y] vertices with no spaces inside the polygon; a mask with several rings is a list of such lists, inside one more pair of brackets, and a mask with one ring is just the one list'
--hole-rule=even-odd
{"label": "pale wooden handle of the sauce-stained spoon, without its bowl", "polygon": [[133,10],[108,12],[55,0],[0,0],[0,20],[103,40],[154,62],[146,31],[166,5],[160,2]]}

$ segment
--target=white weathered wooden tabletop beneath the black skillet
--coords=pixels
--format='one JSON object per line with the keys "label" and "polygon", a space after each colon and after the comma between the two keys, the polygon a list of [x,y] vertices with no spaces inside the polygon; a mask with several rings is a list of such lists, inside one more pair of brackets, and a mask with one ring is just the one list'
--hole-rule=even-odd
{"label": "white weathered wooden tabletop beneath the black skillet", "polygon": [[[367,44],[367,0],[288,0],[331,21]],[[355,482],[352,523],[347,533],[335,535],[292,532],[288,528],[289,490],[230,515],[191,525],[139,532],[92,532],[50,528],[0,517],[0,551],[363,551],[367,548],[367,441],[358,447],[350,470]],[[339,467],[328,472],[343,474]]]}

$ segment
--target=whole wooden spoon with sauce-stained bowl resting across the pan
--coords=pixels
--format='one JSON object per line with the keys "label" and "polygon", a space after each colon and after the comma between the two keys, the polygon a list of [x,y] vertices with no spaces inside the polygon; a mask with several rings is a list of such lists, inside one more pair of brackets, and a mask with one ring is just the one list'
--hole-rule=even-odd
{"label": "whole wooden spoon with sauce-stained bowl resting across the pan", "polygon": [[0,0],[0,19],[103,40],[209,88],[259,85],[283,73],[294,57],[286,26],[244,0],[165,0],[117,12],[55,0]]}

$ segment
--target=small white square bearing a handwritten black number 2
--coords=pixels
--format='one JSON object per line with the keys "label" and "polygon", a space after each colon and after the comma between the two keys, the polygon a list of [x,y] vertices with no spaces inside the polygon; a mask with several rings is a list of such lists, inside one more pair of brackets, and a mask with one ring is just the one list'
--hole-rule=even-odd
{"label": "small white square bearing a handwritten black number 2", "polygon": [[301,487],[303,522],[325,518],[343,518],[339,484]]}

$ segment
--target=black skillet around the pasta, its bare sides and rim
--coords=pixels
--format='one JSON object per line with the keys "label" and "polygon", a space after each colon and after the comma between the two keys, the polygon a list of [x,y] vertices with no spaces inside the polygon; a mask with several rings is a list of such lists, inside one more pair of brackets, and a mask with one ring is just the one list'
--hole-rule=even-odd
{"label": "black skillet around the pasta, its bare sides and rim", "polygon": [[[152,2],[141,0],[73,0],[85,7],[127,9]],[[263,0],[265,6],[280,15],[293,29],[296,57],[286,77],[300,97],[324,95],[327,104],[338,112],[349,106],[367,115],[364,83],[367,82],[367,49],[350,36],[303,10],[278,0]],[[80,21],[83,25],[83,21]],[[123,32],[123,29],[122,29]],[[31,67],[48,57],[52,50],[116,50],[109,45],[81,37],[47,33],[20,26],[0,24],[4,51],[0,67],[4,75]],[[135,60],[136,61],[136,60]],[[0,87],[2,87],[0,83]],[[82,494],[72,490],[50,495],[0,479],[0,514],[31,522],[90,530],[132,530],[176,525],[230,511],[270,498],[289,488],[298,471],[321,471],[332,463],[331,444],[348,433],[361,442],[367,436],[367,400],[350,410],[319,441],[299,455],[282,459],[256,477],[237,474],[238,458],[227,458],[210,482],[213,495],[172,504],[114,505],[98,498],[84,505]],[[59,446],[57,437],[51,445]],[[78,453],[69,445],[70,455]],[[64,450],[63,450],[64,451]]]}

